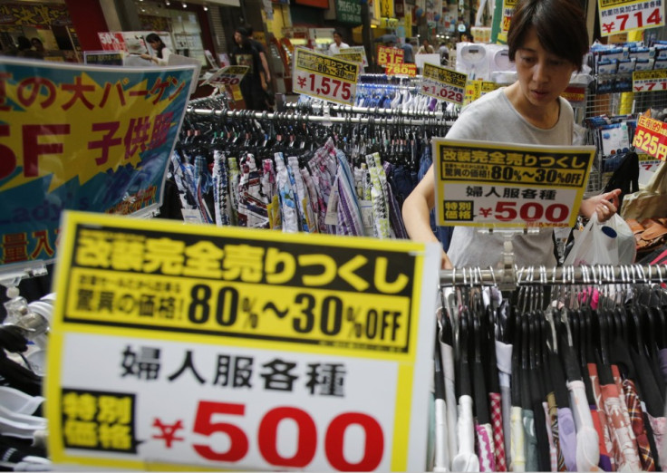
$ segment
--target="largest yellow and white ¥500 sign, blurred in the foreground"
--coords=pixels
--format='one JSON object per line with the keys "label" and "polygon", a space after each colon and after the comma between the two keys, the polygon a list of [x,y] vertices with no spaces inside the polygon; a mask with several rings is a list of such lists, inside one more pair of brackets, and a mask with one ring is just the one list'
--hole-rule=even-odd
{"label": "largest yellow and white \u00a5500 sign, blurred in the foreground", "polygon": [[61,237],[55,464],[426,468],[437,245],[77,212]]}

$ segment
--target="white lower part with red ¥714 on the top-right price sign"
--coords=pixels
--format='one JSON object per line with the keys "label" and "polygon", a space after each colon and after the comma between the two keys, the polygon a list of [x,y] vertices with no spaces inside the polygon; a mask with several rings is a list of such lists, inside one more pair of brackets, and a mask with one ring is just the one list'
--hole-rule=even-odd
{"label": "white lower part with red \u00a5714 on the top-right price sign", "polygon": [[[634,5],[614,5],[613,8],[600,9],[600,30],[603,36],[619,34],[643,28],[655,28],[664,25],[662,6],[647,7],[653,3]],[[634,8],[634,9],[632,9]]]}

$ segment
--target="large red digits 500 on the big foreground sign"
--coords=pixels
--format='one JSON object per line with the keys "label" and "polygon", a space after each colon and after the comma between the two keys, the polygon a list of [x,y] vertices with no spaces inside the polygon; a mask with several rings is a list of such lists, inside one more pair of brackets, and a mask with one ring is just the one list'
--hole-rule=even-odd
{"label": "large red digits 500 on the big foreground sign", "polygon": [[[255,436],[239,423],[244,418],[259,418],[258,426],[249,433],[256,432],[257,449],[267,463],[280,468],[305,468],[314,459],[319,444],[324,446],[324,455],[333,469],[339,471],[371,471],[378,468],[384,455],[384,434],[382,426],[372,416],[362,412],[343,412],[336,415],[318,431],[310,413],[297,408],[281,406],[260,413],[261,406],[233,402],[199,401],[193,431],[212,438],[221,433],[227,436],[227,449],[219,449],[213,442],[201,441],[192,448],[202,459],[235,463],[247,456]],[[215,420],[215,421],[214,421]],[[294,445],[294,453],[285,455],[278,449],[278,430],[283,422],[296,427],[295,438],[289,440]],[[345,435],[350,429],[363,431],[365,439],[362,458],[349,459],[343,449]],[[323,439],[324,441],[321,441]],[[281,443],[285,439],[280,439]]]}

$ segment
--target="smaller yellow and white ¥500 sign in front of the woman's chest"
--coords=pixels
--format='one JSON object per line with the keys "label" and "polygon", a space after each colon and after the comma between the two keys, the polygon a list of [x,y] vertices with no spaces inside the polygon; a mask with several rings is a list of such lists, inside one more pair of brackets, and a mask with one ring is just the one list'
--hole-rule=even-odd
{"label": "smaller yellow and white \u00a5500 sign in front of the woman's chest", "polygon": [[594,146],[433,142],[438,225],[573,227]]}

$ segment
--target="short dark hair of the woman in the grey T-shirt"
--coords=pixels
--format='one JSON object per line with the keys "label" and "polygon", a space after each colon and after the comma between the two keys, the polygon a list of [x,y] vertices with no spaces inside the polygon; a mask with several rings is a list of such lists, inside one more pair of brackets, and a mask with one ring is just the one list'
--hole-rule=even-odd
{"label": "short dark hair of the woman in the grey T-shirt", "polygon": [[575,0],[519,0],[507,33],[511,61],[531,26],[535,26],[537,39],[546,51],[581,70],[589,44],[585,14]]}

